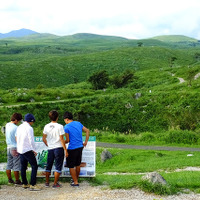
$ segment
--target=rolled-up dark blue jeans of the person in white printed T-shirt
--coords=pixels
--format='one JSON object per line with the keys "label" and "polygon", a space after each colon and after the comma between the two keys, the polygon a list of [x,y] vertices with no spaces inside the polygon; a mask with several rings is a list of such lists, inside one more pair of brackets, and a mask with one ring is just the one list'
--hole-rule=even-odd
{"label": "rolled-up dark blue jeans of the person in white printed T-shirt", "polygon": [[51,172],[55,160],[55,171],[62,173],[64,149],[62,147],[48,150],[46,172]]}

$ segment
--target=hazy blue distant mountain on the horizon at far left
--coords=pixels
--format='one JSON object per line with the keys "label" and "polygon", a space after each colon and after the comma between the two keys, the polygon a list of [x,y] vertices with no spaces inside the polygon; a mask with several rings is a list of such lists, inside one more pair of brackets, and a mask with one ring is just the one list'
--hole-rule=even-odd
{"label": "hazy blue distant mountain on the horizon at far left", "polygon": [[0,39],[10,38],[10,37],[18,38],[18,37],[24,37],[24,36],[33,35],[33,34],[38,34],[38,33],[35,31],[32,31],[32,30],[23,28],[23,29],[11,31],[11,32],[5,33],[5,34],[0,33]]}

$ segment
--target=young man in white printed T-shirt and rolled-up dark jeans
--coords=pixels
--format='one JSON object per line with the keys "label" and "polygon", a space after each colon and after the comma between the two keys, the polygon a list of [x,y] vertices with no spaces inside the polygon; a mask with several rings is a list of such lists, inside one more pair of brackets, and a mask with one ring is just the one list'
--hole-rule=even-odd
{"label": "young man in white printed T-shirt and rolled-up dark jeans", "polygon": [[43,142],[48,147],[48,157],[46,166],[46,183],[45,186],[49,187],[49,176],[53,162],[55,160],[55,173],[54,173],[54,184],[53,188],[60,188],[61,185],[58,183],[60,174],[62,173],[62,166],[65,157],[68,156],[67,148],[64,140],[64,129],[61,124],[58,124],[58,112],[52,110],[49,112],[49,118],[51,122],[44,127],[43,131]]}

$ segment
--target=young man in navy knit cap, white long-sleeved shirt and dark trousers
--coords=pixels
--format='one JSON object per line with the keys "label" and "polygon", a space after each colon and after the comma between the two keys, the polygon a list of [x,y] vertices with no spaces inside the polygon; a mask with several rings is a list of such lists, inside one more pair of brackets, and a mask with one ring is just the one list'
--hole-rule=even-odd
{"label": "young man in navy knit cap, white long-sleeved shirt and dark trousers", "polygon": [[[34,142],[34,132],[31,127],[34,122],[35,117],[28,113],[25,115],[25,121],[23,124],[17,128],[17,151],[20,153],[22,187],[25,189],[30,188],[32,191],[38,191],[40,190],[36,185],[38,165],[35,158],[37,153]],[[30,185],[26,178],[28,163],[30,163],[32,168]]]}

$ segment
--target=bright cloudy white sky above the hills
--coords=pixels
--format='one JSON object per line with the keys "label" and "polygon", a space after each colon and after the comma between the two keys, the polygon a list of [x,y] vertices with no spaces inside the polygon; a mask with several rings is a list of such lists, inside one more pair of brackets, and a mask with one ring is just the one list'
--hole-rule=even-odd
{"label": "bright cloudy white sky above the hills", "polygon": [[21,28],[59,36],[200,39],[200,0],[2,0],[0,33]]}

